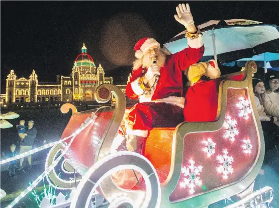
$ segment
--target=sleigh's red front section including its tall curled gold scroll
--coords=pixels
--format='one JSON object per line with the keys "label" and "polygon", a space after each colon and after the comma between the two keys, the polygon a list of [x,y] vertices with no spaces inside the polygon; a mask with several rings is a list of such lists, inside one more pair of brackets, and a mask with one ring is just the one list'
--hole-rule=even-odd
{"label": "sleigh's red front section including its tall curled gold scroll", "polygon": [[[101,157],[110,153],[114,137],[123,118],[126,100],[122,91],[109,84],[103,84],[96,89],[95,99],[99,103],[106,103],[116,98],[116,105],[103,106],[98,110],[88,110],[73,114],[61,136],[61,139],[70,135],[75,136],[64,157],[68,163],[80,174],[85,173]],[[65,108],[69,108],[64,104]],[[74,107],[74,106],[73,106]],[[75,108],[75,107],[74,107]],[[68,109],[64,110],[68,111]],[[70,136],[65,142],[69,145]],[[63,145],[61,145],[63,149]]]}

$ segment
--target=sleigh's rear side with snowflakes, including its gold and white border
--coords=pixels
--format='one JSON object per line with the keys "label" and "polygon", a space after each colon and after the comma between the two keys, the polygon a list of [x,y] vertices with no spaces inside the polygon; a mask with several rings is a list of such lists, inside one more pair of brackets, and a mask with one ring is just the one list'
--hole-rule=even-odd
{"label": "sleigh's rear side with snowflakes, including its gold and white border", "polygon": [[[263,162],[264,141],[254,114],[252,71],[256,72],[255,62],[248,61],[242,76],[222,78],[217,121],[176,127],[161,204],[202,207],[240,193],[254,181]],[[243,81],[236,81],[241,77]]]}

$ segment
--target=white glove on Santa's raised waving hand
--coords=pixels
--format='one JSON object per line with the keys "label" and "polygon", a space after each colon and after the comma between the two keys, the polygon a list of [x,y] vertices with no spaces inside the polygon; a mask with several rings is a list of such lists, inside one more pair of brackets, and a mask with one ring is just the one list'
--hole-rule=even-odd
{"label": "white glove on Santa's raised waving hand", "polygon": [[176,7],[177,15],[174,15],[174,18],[177,22],[184,25],[185,27],[194,24],[194,19],[190,11],[189,4],[179,4],[178,7]]}

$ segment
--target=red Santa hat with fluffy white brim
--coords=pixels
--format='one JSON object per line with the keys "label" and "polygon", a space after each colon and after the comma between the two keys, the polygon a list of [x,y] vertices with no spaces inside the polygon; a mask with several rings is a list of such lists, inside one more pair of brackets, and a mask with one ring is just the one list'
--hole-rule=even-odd
{"label": "red Santa hat with fluffy white brim", "polygon": [[157,46],[157,48],[160,48],[160,43],[158,43],[154,38],[146,37],[140,39],[134,47],[134,50],[136,51],[136,58],[141,58],[144,53],[153,46]]}

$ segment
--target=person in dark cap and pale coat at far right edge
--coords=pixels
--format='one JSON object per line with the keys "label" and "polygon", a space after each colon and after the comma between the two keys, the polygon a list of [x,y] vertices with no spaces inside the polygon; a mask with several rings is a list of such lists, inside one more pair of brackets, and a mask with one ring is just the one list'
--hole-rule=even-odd
{"label": "person in dark cap and pale coat at far right edge", "polygon": [[264,75],[266,96],[264,109],[267,115],[279,118],[279,74],[267,72]]}

